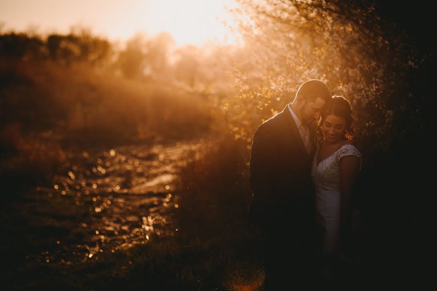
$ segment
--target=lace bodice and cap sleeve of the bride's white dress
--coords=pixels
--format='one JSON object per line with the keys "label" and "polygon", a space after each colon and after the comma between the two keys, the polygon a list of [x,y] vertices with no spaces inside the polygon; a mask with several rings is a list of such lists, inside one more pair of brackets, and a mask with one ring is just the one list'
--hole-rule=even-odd
{"label": "lace bodice and cap sleeve of the bride's white dress", "polygon": [[360,159],[361,165],[361,153],[353,145],[344,145],[332,155],[317,164],[319,147],[320,146],[317,146],[311,170],[311,177],[313,178],[313,182],[316,188],[320,187],[325,190],[340,191],[340,159],[345,156],[356,156]]}

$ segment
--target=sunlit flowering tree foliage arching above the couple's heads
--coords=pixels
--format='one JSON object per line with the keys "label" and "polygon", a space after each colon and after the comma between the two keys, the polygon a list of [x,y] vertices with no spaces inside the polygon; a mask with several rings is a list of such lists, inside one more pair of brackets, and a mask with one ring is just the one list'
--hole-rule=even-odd
{"label": "sunlit flowering tree foliage arching above the couple's heads", "polygon": [[[282,110],[298,86],[313,78],[352,102],[359,143],[369,153],[375,146],[391,150],[390,143],[413,121],[400,122],[405,115],[415,114],[413,122],[423,123],[418,115],[432,101],[420,97],[424,88],[418,77],[435,60],[435,40],[419,40],[426,33],[411,18],[433,24],[414,13],[409,16],[410,6],[390,2],[398,6],[390,9],[386,2],[323,0],[240,3],[243,9],[237,13],[251,20],[240,25],[252,53],[235,69],[240,93],[231,102],[240,112],[258,112],[257,119],[243,119],[250,124],[248,132]],[[426,10],[421,8],[414,5],[412,11]],[[235,122],[241,125],[240,118]]]}

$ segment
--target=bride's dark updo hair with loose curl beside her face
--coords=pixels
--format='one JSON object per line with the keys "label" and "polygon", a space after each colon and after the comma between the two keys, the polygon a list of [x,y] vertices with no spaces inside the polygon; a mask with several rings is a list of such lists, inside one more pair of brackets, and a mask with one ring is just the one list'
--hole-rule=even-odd
{"label": "bride's dark updo hair with loose curl beside her face", "polygon": [[321,113],[320,125],[323,124],[326,116],[330,114],[344,118],[344,121],[346,122],[344,139],[353,140],[355,138],[355,132],[353,131],[352,128],[354,117],[352,114],[351,103],[349,103],[349,101],[345,97],[333,96],[330,102],[326,104],[325,110],[323,110]]}

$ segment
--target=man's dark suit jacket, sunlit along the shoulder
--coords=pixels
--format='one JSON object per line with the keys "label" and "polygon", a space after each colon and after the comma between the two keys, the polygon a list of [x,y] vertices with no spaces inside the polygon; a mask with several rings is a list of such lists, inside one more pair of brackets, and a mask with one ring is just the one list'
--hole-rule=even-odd
{"label": "man's dark suit jacket, sunlit along the shoulder", "polygon": [[287,107],[256,129],[250,160],[252,223],[262,228],[313,226],[313,127],[310,141],[312,152],[308,154]]}

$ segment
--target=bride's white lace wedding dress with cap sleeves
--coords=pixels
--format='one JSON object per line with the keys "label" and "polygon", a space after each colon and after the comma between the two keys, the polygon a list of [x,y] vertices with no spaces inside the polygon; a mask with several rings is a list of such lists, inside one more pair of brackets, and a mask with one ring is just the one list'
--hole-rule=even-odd
{"label": "bride's white lace wedding dress with cap sleeves", "polygon": [[337,250],[340,230],[340,172],[339,162],[342,157],[356,156],[360,159],[361,153],[353,145],[344,145],[335,153],[317,164],[317,146],[314,155],[311,177],[316,192],[316,214],[318,224],[323,232],[322,252],[325,255],[334,254]]}

